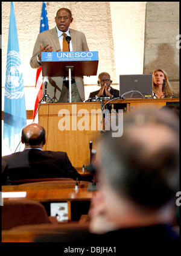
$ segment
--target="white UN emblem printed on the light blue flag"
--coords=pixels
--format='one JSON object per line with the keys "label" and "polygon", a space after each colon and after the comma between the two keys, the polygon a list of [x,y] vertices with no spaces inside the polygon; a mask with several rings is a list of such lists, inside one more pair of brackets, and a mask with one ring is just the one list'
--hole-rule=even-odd
{"label": "white UN emblem printed on the light blue flag", "polygon": [[7,55],[5,96],[7,98],[22,98],[24,83],[21,72],[21,60],[17,51],[10,51]]}

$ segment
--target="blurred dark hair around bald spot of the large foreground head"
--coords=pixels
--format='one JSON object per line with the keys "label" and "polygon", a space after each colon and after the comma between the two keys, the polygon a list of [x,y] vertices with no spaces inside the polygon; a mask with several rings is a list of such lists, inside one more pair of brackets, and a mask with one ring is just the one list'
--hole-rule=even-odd
{"label": "blurred dark hair around bald spot of the large foreground head", "polygon": [[144,122],[142,125],[150,122],[162,124],[176,133],[179,140],[179,120],[176,116],[168,112],[165,115],[164,110],[140,110],[124,119],[125,132],[121,137],[112,138],[110,132],[106,132],[101,143],[101,162],[113,189],[129,197],[142,209],[155,210],[170,202],[179,189],[179,144],[168,142],[167,138],[164,146],[145,153],[145,144],[133,139],[126,130],[138,126],[136,117],[141,114],[144,117],[144,120],[140,119]]}

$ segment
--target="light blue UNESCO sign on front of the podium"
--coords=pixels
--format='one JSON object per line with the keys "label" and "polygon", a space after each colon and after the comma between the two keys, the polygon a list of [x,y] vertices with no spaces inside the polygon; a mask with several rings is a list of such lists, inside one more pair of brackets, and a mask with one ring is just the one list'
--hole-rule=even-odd
{"label": "light blue UNESCO sign on front of the podium", "polygon": [[98,60],[98,51],[42,52],[42,62],[79,62]]}

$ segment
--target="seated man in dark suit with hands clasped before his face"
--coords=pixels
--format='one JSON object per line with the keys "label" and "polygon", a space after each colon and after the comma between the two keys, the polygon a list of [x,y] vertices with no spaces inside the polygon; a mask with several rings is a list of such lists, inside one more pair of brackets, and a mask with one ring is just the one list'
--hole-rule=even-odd
{"label": "seated man in dark suit with hands clasped before his face", "polygon": [[119,97],[119,91],[110,87],[112,80],[110,80],[110,75],[107,72],[102,72],[98,75],[98,85],[101,86],[100,90],[95,92],[90,92],[89,98],[95,97]]}

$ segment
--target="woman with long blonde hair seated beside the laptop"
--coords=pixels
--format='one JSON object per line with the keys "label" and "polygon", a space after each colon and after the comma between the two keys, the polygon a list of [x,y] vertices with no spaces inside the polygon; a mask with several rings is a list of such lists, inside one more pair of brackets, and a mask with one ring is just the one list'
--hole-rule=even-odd
{"label": "woman with long blonde hair seated beside the laptop", "polygon": [[[165,87],[164,87],[165,80]],[[173,88],[168,81],[168,75],[164,69],[153,71],[153,98],[164,98],[165,89],[167,97],[173,97]]]}

